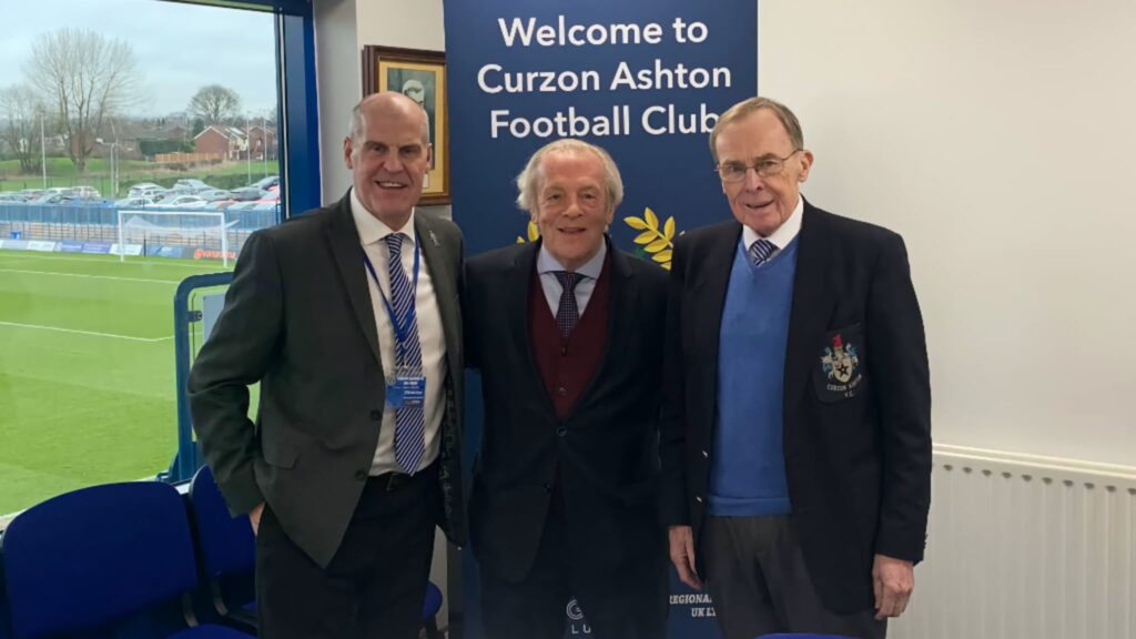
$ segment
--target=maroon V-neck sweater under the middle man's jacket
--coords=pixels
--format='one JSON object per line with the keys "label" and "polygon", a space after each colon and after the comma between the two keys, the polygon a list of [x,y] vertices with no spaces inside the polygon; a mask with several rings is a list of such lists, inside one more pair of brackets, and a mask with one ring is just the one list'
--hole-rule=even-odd
{"label": "maroon V-neck sweater under the middle man's jacket", "polygon": [[604,260],[587,308],[567,339],[560,335],[556,315],[544,297],[541,276],[533,271],[533,283],[528,288],[528,332],[533,340],[533,356],[544,380],[544,389],[561,420],[568,416],[592,381],[608,348],[610,262],[610,257]]}

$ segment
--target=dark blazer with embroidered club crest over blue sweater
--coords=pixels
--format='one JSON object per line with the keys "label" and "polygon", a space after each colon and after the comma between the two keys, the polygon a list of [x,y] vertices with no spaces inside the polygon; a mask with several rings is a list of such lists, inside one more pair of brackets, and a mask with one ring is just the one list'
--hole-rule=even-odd
{"label": "dark blazer with embroidered club crest over blue sweater", "polygon": [[[695,539],[715,462],[721,312],[741,234],[730,221],[675,242],[663,503],[667,523],[693,525]],[[875,554],[922,558],[932,456],[927,349],[899,235],[805,202],[797,241],[785,473],[817,590],[829,608],[849,613],[872,606]],[[862,377],[851,392],[833,390],[822,365],[837,334],[859,358]]]}

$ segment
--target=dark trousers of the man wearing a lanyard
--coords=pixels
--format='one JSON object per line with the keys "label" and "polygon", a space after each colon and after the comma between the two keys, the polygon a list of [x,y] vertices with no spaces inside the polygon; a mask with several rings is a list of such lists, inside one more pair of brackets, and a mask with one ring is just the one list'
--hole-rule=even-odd
{"label": "dark trousers of the man wearing a lanyard", "polygon": [[265,507],[257,536],[259,637],[417,639],[442,496],[436,464],[403,479],[367,480],[326,569]]}

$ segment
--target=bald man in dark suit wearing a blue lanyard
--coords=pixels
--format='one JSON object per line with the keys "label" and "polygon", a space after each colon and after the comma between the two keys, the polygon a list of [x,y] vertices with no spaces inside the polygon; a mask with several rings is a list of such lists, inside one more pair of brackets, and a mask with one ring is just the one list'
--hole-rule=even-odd
{"label": "bald man in dark suit wearing a blue lanyard", "polygon": [[366,98],[343,156],[343,199],[245,242],[189,383],[206,459],[257,531],[269,639],[417,638],[435,525],[463,534],[461,233],[415,213],[421,108]]}

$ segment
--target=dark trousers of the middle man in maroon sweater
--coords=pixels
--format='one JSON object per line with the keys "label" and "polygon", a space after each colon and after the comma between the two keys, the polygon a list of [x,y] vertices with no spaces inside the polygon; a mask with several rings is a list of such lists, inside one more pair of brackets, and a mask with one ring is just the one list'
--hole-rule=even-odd
{"label": "dark trousers of the middle man in maroon sweater", "polygon": [[[604,574],[585,574],[566,533],[567,520],[558,490],[553,492],[533,567],[524,580],[500,579],[481,566],[482,622],[486,639],[563,639],[568,615],[595,639],[662,639],[666,636],[666,554],[657,546],[641,562],[612,566]],[[660,537],[661,539],[661,531]],[[577,605],[569,606],[575,599]],[[752,639],[752,637],[750,638]]]}

